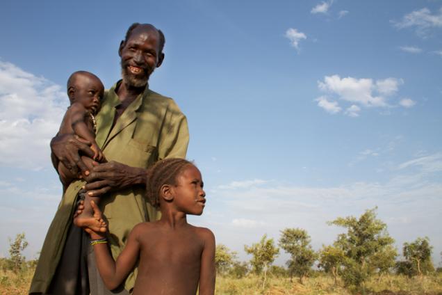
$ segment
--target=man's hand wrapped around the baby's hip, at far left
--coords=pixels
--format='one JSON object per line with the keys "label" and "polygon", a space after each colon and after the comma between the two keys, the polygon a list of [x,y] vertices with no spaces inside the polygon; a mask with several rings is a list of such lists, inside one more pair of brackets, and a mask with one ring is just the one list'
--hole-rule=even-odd
{"label": "man's hand wrapped around the baby's hip, at far left", "polygon": [[94,156],[89,141],[72,134],[58,135],[51,140],[51,151],[55,156],[51,157],[54,168],[57,169],[58,162],[61,161],[73,175],[78,175],[80,171],[88,175],[88,168],[81,161],[79,152],[88,157]]}

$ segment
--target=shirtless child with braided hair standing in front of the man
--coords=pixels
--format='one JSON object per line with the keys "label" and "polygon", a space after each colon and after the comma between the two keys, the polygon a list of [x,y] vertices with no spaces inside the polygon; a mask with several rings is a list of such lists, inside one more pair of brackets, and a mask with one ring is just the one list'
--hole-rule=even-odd
{"label": "shirtless child with braided hair standing in front of the man", "polygon": [[[202,214],[205,196],[201,173],[189,161],[165,159],[149,168],[147,197],[160,207],[161,219],[136,225],[116,262],[105,234],[85,228],[106,287],[118,287],[139,259],[134,295],[195,295],[197,289],[200,295],[214,294],[215,237],[207,228],[188,224],[186,218]],[[97,228],[105,227],[99,208],[90,203]]]}

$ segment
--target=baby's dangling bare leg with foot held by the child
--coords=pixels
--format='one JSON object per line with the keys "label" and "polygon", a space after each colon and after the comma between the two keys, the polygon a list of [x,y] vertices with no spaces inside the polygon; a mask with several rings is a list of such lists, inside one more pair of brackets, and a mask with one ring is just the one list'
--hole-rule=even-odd
{"label": "baby's dangling bare leg with foot held by the child", "polygon": [[[88,169],[92,169],[92,159],[88,157],[81,157],[84,164],[88,167]],[[96,216],[94,216],[94,210],[90,205],[90,201],[94,201],[96,205],[99,205],[99,198],[88,196],[87,193],[84,194],[84,208],[75,218],[74,225],[79,228],[90,228],[95,232],[106,232],[106,228],[101,225],[99,221],[97,221]]]}

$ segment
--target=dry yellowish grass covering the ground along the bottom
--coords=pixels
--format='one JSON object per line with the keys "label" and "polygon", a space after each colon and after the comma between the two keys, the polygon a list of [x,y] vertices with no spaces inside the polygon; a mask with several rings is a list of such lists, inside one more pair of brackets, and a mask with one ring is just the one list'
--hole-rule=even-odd
{"label": "dry yellowish grass covering the ground along the bottom", "polygon": [[[21,274],[0,270],[0,294],[24,295],[28,292],[34,269],[28,269]],[[442,274],[425,276],[423,278],[407,278],[404,276],[373,278],[366,285],[366,294],[373,295],[442,295]],[[334,280],[328,276],[306,278],[300,284],[295,278],[268,278],[263,287],[263,281],[258,276],[249,275],[245,278],[234,279],[218,276],[216,282],[217,295],[352,295],[343,287],[342,282],[334,285]],[[354,293],[358,294],[358,293]]]}

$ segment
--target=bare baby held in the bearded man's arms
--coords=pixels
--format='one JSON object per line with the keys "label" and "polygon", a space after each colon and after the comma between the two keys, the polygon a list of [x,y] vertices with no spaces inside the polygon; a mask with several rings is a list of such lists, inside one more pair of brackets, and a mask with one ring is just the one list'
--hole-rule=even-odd
{"label": "bare baby held in the bearded man's arms", "polygon": [[[99,111],[103,94],[103,83],[101,83],[95,74],[90,72],[74,72],[67,80],[67,95],[71,105],[67,108],[65,116],[63,117],[58,135],[76,134],[90,143],[94,157],[92,159],[85,156],[81,157],[88,169],[92,169],[93,161],[106,161],[103,152],[101,152],[95,141],[95,131],[97,129],[95,115],[97,115]],[[81,177],[80,175],[72,174],[61,161],[58,162],[58,175],[60,175],[60,180],[63,183],[63,191],[67,189],[67,186],[69,186],[73,180],[78,180]],[[93,212],[90,207],[90,200],[92,200],[92,197],[86,194],[85,200],[83,213],[74,219],[74,224],[79,227],[95,224],[93,223],[95,219],[91,220]],[[97,230],[97,228],[95,228],[95,230]],[[106,228],[101,230],[106,230]]]}

